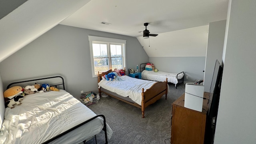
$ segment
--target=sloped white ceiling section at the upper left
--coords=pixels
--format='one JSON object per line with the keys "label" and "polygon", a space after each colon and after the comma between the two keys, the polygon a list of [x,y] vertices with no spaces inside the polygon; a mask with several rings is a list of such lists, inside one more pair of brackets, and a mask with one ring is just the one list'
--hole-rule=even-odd
{"label": "sloped white ceiling section at the upper left", "polygon": [[28,0],[0,20],[0,62],[90,0]]}

